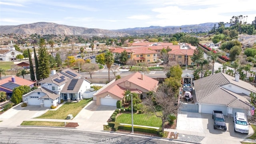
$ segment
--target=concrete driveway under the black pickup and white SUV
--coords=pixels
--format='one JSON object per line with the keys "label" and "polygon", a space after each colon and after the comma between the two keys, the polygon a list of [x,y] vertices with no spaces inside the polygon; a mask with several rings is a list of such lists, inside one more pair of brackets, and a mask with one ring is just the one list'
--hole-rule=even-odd
{"label": "concrete driveway under the black pickup and white SUV", "polygon": [[218,130],[213,128],[214,120],[212,114],[200,114],[194,112],[179,111],[177,118],[177,130],[185,130],[190,132],[198,132],[201,135],[213,134],[212,136],[218,138],[219,136],[230,136],[234,138],[246,138],[254,133],[251,126],[249,126],[249,134],[241,134],[234,132],[233,118],[225,116],[227,130]]}

